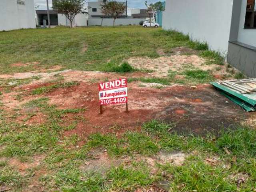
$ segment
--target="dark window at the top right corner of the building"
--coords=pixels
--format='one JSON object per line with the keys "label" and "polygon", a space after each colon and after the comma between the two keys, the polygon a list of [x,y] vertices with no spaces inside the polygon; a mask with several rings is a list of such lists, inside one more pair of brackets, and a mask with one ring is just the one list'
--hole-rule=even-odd
{"label": "dark window at the top right corner of the building", "polygon": [[247,0],[244,28],[256,28],[255,0]]}

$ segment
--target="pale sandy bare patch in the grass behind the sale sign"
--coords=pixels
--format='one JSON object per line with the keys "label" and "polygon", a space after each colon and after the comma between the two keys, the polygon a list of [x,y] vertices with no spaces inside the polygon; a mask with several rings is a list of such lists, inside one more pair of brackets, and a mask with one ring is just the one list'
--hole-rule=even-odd
{"label": "pale sandy bare patch in the grass behind the sale sign", "polygon": [[166,77],[168,72],[180,72],[186,69],[200,69],[204,71],[212,71],[214,76],[222,79],[230,73],[226,71],[226,66],[218,64],[207,64],[207,59],[198,56],[197,51],[186,47],[178,47],[172,49],[173,54],[168,56],[162,50],[158,50],[160,57],[147,58],[147,57],[134,57],[128,60],[132,66],[140,69],[153,70],[152,76]]}

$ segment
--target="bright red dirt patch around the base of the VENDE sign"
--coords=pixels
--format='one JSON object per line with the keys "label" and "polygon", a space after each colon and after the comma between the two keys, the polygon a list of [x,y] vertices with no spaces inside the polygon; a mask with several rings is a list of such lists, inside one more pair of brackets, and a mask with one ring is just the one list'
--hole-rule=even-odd
{"label": "bright red dirt patch around the base of the VENDE sign", "polygon": [[[131,89],[131,93],[136,93],[136,90]],[[137,92],[137,94],[143,94]],[[98,101],[98,84],[88,84],[81,82],[78,86],[72,86],[66,89],[56,89],[53,92],[46,94],[50,98],[50,104],[57,105],[60,109],[66,108],[85,108],[86,111],[80,113],[86,119],[86,122],[79,122],[76,129],[65,132],[65,135],[80,134],[88,136],[92,133],[116,132],[121,134],[126,130],[135,130],[136,124],[141,124],[151,118],[153,110],[147,108],[133,108],[134,105],[130,102],[129,112],[125,112],[125,105],[110,105],[104,106],[104,113],[99,114]],[[72,117],[69,114],[67,118]],[[74,116],[75,117],[75,116]],[[72,122],[71,120],[68,122]],[[118,125],[114,127],[115,125]]]}

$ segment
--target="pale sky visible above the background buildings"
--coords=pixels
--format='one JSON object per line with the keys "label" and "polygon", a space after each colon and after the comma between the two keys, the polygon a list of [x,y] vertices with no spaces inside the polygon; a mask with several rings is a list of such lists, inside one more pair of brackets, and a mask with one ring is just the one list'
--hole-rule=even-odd
{"label": "pale sky visible above the background buildings", "polygon": [[[49,1],[49,7],[52,7],[52,0],[48,0]],[[92,0],[94,1],[94,0]],[[124,0],[121,0],[124,1]],[[154,3],[157,2],[159,0],[148,0],[149,3]],[[145,0],[128,0],[128,8],[145,8],[144,5]],[[46,6],[46,0],[35,0],[35,4],[36,6],[39,6],[37,8],[37,10],[46,10],[47,6]]]}

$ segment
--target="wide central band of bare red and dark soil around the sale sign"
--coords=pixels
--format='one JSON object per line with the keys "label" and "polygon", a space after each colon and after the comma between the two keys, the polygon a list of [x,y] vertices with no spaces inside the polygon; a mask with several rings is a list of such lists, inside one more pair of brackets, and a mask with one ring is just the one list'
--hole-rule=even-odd
{"label": "wide central band of bare red and dark soil around the sale sign", "polygon": [[[198,59],[197,56],[193,57]],[[30,94],[35,88],[54,84],[50,81],[56,78],[56,74],[62,75],[64,82],[78,81],[80,84],[69,88],[56,88],[42,95]],[[126,130],[140,130],[140,125],[152,118],[173,123],[173,131],[207,134],[208,132],[218,132],[223,126],[233,126],[250,116],[208,84],[198,86],[172,85],[165,86],[163,89],[156,89],[148,86],[141,87],[139,82],[129,83],[129,113],[124,112],[124,105],[112,105],[104,106],[104,113],[99,114],[97,86],[99,81],[117,77],[129,78],[150,75],[144,72],[117,75],[115,73],[74,70],[50,73],[29,72],[23,73],[23,75],[19,73],[5,76],[5,78],[29,78],[32,76],[41,76],[41,78],[30,84],[18,86],[9,93],[4,93],[2,102],[5,110],[9,112],[13,112],[14,109],[26,102],[42,96],[48,97],[50,99],[49,104],[54,104],[59,109],[85,108],[86,111],[80,115],[86,119],[86,122],[79,122],[75,129],[66,131],[66,136],[76,133],[87,137],[96,132],[115,132],[118,135]],[[3,77],[1,76],[1,78]],[[21,99],[17,100],[16,96],[20,92],[22,93]],[[41,124],[47,118],[37,109],[23,108],[16,121],[24,120],[29,112],[36,112],[36,115],[28,118],[26,124]],[[75,115],[67,115],[63,122],[68,125],[74,118]]]}

